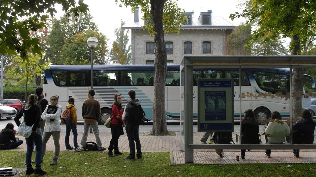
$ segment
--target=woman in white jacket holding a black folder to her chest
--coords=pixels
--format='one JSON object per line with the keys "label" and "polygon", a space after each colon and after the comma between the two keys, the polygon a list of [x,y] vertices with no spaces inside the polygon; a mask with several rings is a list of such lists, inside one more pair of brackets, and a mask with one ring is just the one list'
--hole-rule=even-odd
{"label": "woman in white jacket holding a black folder to her chest", "polygon": [[[60,152],[60,145],[59,145],[59,137],[60,137],[60,131],[61,131],[60,116],[61,116],[61,111],[62,111],[63,106],[58,105],[58,96],[57,95],[53,95],[50,98],[50,100],[51,100],[51,104],[46,106],[46,109],[42,114],[42,119],[46,120],[46,124],[44,127],[44,134],[42,137],[42,141],[43,141],[42,161],[43,161],[43,157],[45,156],[46,143],[52,135],[53,140],[54,140],[54,145],[55,145],[55,155],[53,157],[51,165],[56,165],[57,161],[58,161],[59,152]],[[57,111],[51,112],[49,110],[47,112],[47,108],[50,105],[56,106]]]}

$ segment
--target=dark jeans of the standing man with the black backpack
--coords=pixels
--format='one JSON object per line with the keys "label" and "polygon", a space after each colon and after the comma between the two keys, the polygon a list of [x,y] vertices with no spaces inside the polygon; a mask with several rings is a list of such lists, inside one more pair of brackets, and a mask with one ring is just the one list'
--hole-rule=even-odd
{"label": "dark jeans of the standing man with the black backpack", "polygon": [[135,143],[136,142],[136,150],[137,150],[137,155],[142,156],[142,147],[140,145],[140,140],[139,140],[139,128],[133,128],[133,127],[125,127],[126,130],[126,135],[128,138],[128,145],[130,146],[130,155],[135,156]]}

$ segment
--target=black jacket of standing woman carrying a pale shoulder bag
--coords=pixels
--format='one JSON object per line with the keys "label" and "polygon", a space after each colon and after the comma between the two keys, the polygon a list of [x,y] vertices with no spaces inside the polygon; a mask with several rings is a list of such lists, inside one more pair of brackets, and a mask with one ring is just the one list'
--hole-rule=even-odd
{"label": "black jacket of standing woman carrying a pale shoulder bag", "polygon": [[39,122],[41,119],[41,108],[38,105],[26,105],[21,109],[21,111],[14,117],[14,121],[17,126],[20,126],[20,118],[23,116],[27,126],[33,126],[32,130],[36,130],[36,128],[40,127]]}

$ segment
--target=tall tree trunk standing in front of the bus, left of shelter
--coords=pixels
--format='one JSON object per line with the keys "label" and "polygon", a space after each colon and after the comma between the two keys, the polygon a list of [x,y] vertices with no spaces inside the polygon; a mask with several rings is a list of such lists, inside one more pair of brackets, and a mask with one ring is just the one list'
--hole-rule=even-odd
{"label": "tall tree trunk standing in front of the bus, left of shelter", "polygon": [[155,77],[152,135],[168,134],[165,113],[165,86],[167,75],[167,54],[162,24],[163,7],[166,0],[150,0],[155,42]]}

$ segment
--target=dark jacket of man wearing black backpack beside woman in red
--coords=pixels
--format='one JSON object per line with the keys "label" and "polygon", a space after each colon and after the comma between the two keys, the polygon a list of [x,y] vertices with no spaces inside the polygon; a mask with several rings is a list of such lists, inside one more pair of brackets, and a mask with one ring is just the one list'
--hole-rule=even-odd
{"label": "dark jacket of man wearing black backpack beside woman in red", "polygon": [[133,127],[133,128],[139,128],[139,123],[133,122],[133,112],[135,111],[136,106],[140,105],[140,100],[130,100],[127,101],[126,107],[125,107],[125,116],[124,116],[124,122],[126,124],[127,128]]}

